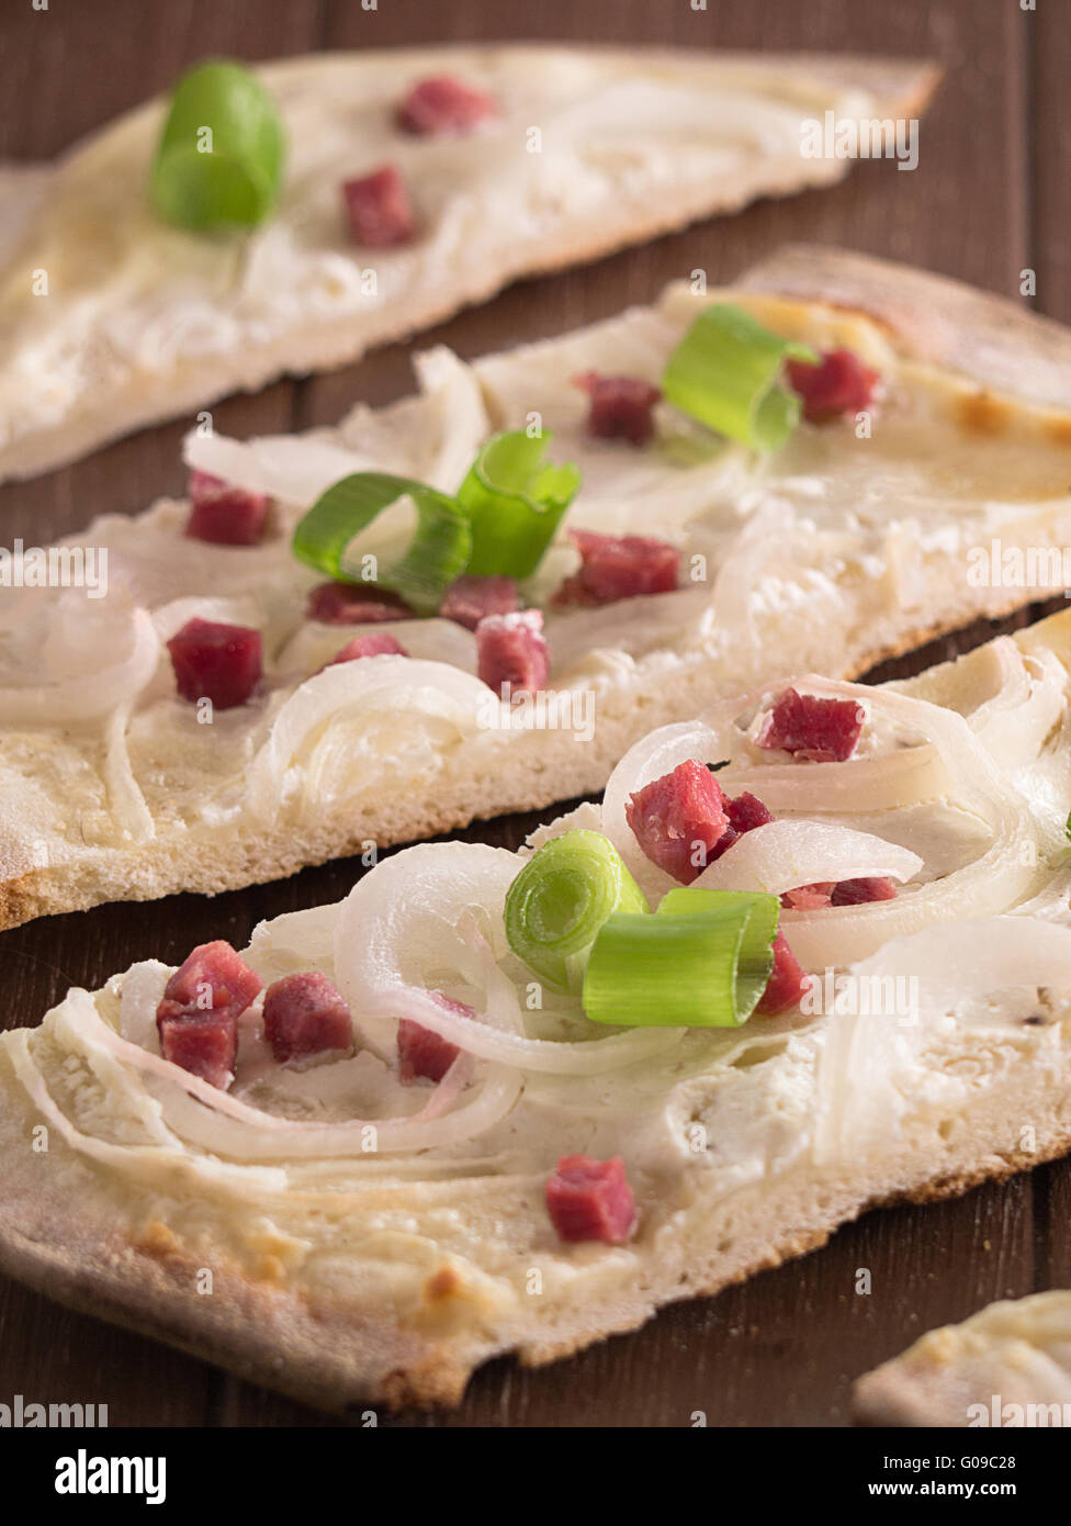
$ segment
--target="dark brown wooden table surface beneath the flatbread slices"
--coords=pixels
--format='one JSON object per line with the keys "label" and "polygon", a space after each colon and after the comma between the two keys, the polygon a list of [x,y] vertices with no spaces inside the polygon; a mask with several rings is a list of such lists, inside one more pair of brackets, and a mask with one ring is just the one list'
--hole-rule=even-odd
{"label": "dark brown wooden table surface beneath the flatbread slices", "polygon": [[[365,0],[369,3],[369,0]],[[697,0],[696,0],[697,3]],[[810,49],[929,56],[944,85],[920,134],[920,163],[864,163],[831,191],[761,203],[735,218],[528,281],[415,345],[392,345],[334,375],[281,382],[214,409],[246,435],[331,423],[357,398],[410,389],[413,348],[470,357],[558,333],[651,299],[705,267],[729,278],[783,241],[889,255],[1016,296],[1036,272],[1036,307],[1071,320],[1066,177],[1071,8],[1063,0],[6,0],[0,17],[0,157],[58,153],[116,111],[165,89],[206,55],[270,58],[316,49],[549,38],[688,47]],[[0,490],[0,540],[47,542],[104,510],[136,511],[182,488],[188,421]],[[1025,618],[1025,617],[1024,617]],[[975,630],[978,641],[989,630]],[[949,642],[940,652],[947,655]],[[897,671],[925,665],[917,658]],[[888,671],[883,676],[888,676]],[[555,812],[546,813],[554,815]],[[537,816],[462,833],[517,845]],[[262,917],[343,896],[360,868],[337,862],[206,900],[101,906],[0,935],[0,1018],[32,1022],[70,984],[99,986],[133,960],[180,961],[192,943],[241,946]],[[2,1190],[2,1177],[0,1177]],[[870,1296],[856,1294],[870,1268]],[[450,1416],[410,1425],[836,1425],[851,1378],[921,1331],[996,1297],[1071,1279],[1071,1167],[1044,1166],[958,1201],[867,1215],[828,1247],[717,1299],[676,1306],[642,1331],[542,1370],[496,1361]],[[0,1401],[107,1402],[113,1425],[285,1425],[323,1418],[207,1364],[61,1309],[0,1280]]]}

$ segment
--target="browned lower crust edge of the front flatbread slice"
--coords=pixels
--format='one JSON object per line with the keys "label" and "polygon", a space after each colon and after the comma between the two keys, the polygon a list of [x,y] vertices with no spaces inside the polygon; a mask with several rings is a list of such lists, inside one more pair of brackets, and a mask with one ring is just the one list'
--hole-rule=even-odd
{"label": "browned lower crust edge of the front flatbread slice", "polygon": [[[1066,1131],[1037,1154],[1005,1151],[998,1157],[1001,1164],[958,1170],[903,1192],[876,1195],[828,1228],[784,1235],[769,1253],[732,1276],[685,1286],[661,1299],[659,1308],[712,1297],[758,1271],[818,1250],[838,1228],[873,1209],[963,1196],[981,1183],[1007,1180],[1069,1151],[1071,1131]],[[11,1202],[0,1204],[0,1270],[79,1314],[148,1335],[243,1380],[334,1413],[362,1405],[383,1405],[392,1413],[456,1407],[473,1370],[511,1349],[505,1344],[467,1360],[449,1341],[412,1335],[381,1322],[363,1322],[352,1311],[313,1309],[293,1293],[252,1280],[236,1265],[217,1270],[214,1294],[197,1299],[189,1288],[198,1267],[188,1254],[150,1253],[116,1236],[102,1238],[92,1222],[87,1227],[61,1204],[43,1206],[40,1198],[29,1202],[23,1222]],[[656,1312],[648,1309],[610,1326],[587,1326],[580,1335],[540,1344],[536,1352],[522,1347],[517,1355],[522,1366],[545,1366],[609,1334],[638,1329]],[[375,1389],[368,1386],[371,1367],[383,1373]]]}

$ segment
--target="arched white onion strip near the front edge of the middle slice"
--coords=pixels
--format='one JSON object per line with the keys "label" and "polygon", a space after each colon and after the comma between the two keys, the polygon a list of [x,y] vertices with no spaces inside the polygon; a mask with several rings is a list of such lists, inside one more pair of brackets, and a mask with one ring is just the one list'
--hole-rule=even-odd
{"label": "arched white onion strip near the front edge of the middle slice", "polygon": [[[377,656],[328,667],[302,684],[275,717],[249,768],[249,806],[262,821],[273,819],[298,783],[293,775],[304,771],[316,777],[316,754],[336,723],[388,713],[412,728],[418,716],[426,716],[465,737],[479,729],[488,693],[479,679],[447,662]],[[359,771],[363,763],[354,755],[352,766]],[[314,804],[310,801],[308,809]]]}

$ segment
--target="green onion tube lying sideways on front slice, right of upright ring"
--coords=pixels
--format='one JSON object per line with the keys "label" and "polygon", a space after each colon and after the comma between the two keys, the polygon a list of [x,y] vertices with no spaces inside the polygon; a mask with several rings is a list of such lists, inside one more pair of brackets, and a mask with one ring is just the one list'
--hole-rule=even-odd
{"label": "green onion tube lying sideways on front slice, right of upright ring", "polygon": [[595,938],[583,1003],[592,1022],[732,1029],[774,969],[778,897],[671,890],[653,917],[616,913]]}

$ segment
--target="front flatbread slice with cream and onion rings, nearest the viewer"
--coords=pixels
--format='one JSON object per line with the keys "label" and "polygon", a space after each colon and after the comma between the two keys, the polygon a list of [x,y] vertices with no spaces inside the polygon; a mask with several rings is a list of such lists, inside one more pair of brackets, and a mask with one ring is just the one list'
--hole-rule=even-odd
{"label": "front flatbread slice with cream and onion rings, nearest the viewer", "polygon": [[[243,958],[265,983],[333,981],[349,1056],[336,1036],[320,1064],[279,1062],[269,993],[223,1090],[198,1079],[162,1058],[157,1009],[182,990],[153,960],[3,1035],[3,1268],[313,1404],[453,1404],[493,1355],[566,1357],[868,1207],[1065,1152],[1071,615],[918,681],[793,681],[812,716],[847,714],[839,761],[770,737],[783,685],[644,739],[603,807],[519,855],[421,844],[340,905],[261,923]],[[680,894],[626,803],[714,761],[774,821],[732,818],[693,890],[789,896],[780,931],[818,978],[740,1027],[647,1025],[680,995],[667,978],[639,1025],[597,1025],[586,983],[581,1007],[517,954],[505,897],[577,833],[609,839],[651,908]],[[406,1085],[406,1062],[433,1074],[424,1042],[455,1053]],[[548,1195],[571,1155],[632,1193],[574,1239]]]}

